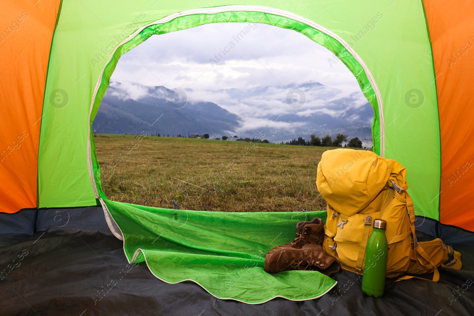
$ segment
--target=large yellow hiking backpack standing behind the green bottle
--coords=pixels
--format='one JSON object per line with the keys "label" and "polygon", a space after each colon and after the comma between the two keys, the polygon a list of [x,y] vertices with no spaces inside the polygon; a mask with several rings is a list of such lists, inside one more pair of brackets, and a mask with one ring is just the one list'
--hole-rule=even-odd
{"label": "large yellow hiking backpack standing behind the green bottle", "polygon": [[328,203],[323,246],[343,269],[363,274],[364,267],[374,264],[365,262],[365,247],[376,218],[387,221],[387,277],[434,272],[436,282],[438,266],[461,268],[461,254],[439,238],[417,242],[405,178],[400,163],[371,151],[341,148],[322,154],[316,184]]}

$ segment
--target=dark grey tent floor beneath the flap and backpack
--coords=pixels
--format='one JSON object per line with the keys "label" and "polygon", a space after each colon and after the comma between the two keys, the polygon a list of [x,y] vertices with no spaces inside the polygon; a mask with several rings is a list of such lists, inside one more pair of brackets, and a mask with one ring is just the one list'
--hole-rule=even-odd
{"label": "dark grey tent floor beneath the flap and backpack", "polygon": [[441,268],[437,283],[387,280],[380,299],[365,297],[360,278],[341,271],[321,298],[249,305],[216,299],[193,282],[167,284],[143,263],[128,264],[101,208],[0,214],[0,316],[474,315],[474,234],[423,218],[417,225],[420,240],[439,236],[460,250],[463,269]]}

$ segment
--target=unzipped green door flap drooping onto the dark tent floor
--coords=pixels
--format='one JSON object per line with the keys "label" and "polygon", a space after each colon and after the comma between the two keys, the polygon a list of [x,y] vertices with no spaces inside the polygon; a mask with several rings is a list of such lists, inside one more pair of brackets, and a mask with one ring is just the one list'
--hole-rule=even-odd
{"label": "unzipped green door flap drooping onto the dark tent floor", "polygon": [[258,304],[318,298],[336,281],[317,271],[264,271],[264,254],[291,241],[319,212],[227,213],[152,208],[104,199],[130,263],[146,261],[160,280],[191,280],[217,298]]}

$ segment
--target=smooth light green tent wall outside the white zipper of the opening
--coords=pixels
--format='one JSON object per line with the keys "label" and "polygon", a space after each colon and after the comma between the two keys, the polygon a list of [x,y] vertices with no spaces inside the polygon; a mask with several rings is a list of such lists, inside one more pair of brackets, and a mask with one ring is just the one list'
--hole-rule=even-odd
{"label": "smooth light green tent wall outside the white zipper of the opening", "polygon": [[[150,3],[148,3],[150,2]],[[64,108],[45,99],[39,149],[39,206],[96,204],[88,156],[92,95],[113,50],[139,27],[198,5],[191,1],[143,4],[64,0],[53,40],[46,95],[66,91]],[[244,1],[269,6],[273,1]],[[208,1],[206,7],[233,4]],[[305,1],[273,4],[308,18],[352,43],[382,94],[385,156],[408,169],[418,214],[438,219],[440,152],[433,62],[421,2],[399,0],[390,7],[375,0]],[[377,21],[377,22],[374,22]],[[204,35],[205,36],[205,35]],[[405,102],[411,89],[423,90],[422,107]],[[93,145],[92,145],[93,147]],[[431,202],[430,202],[431,201]]]}

